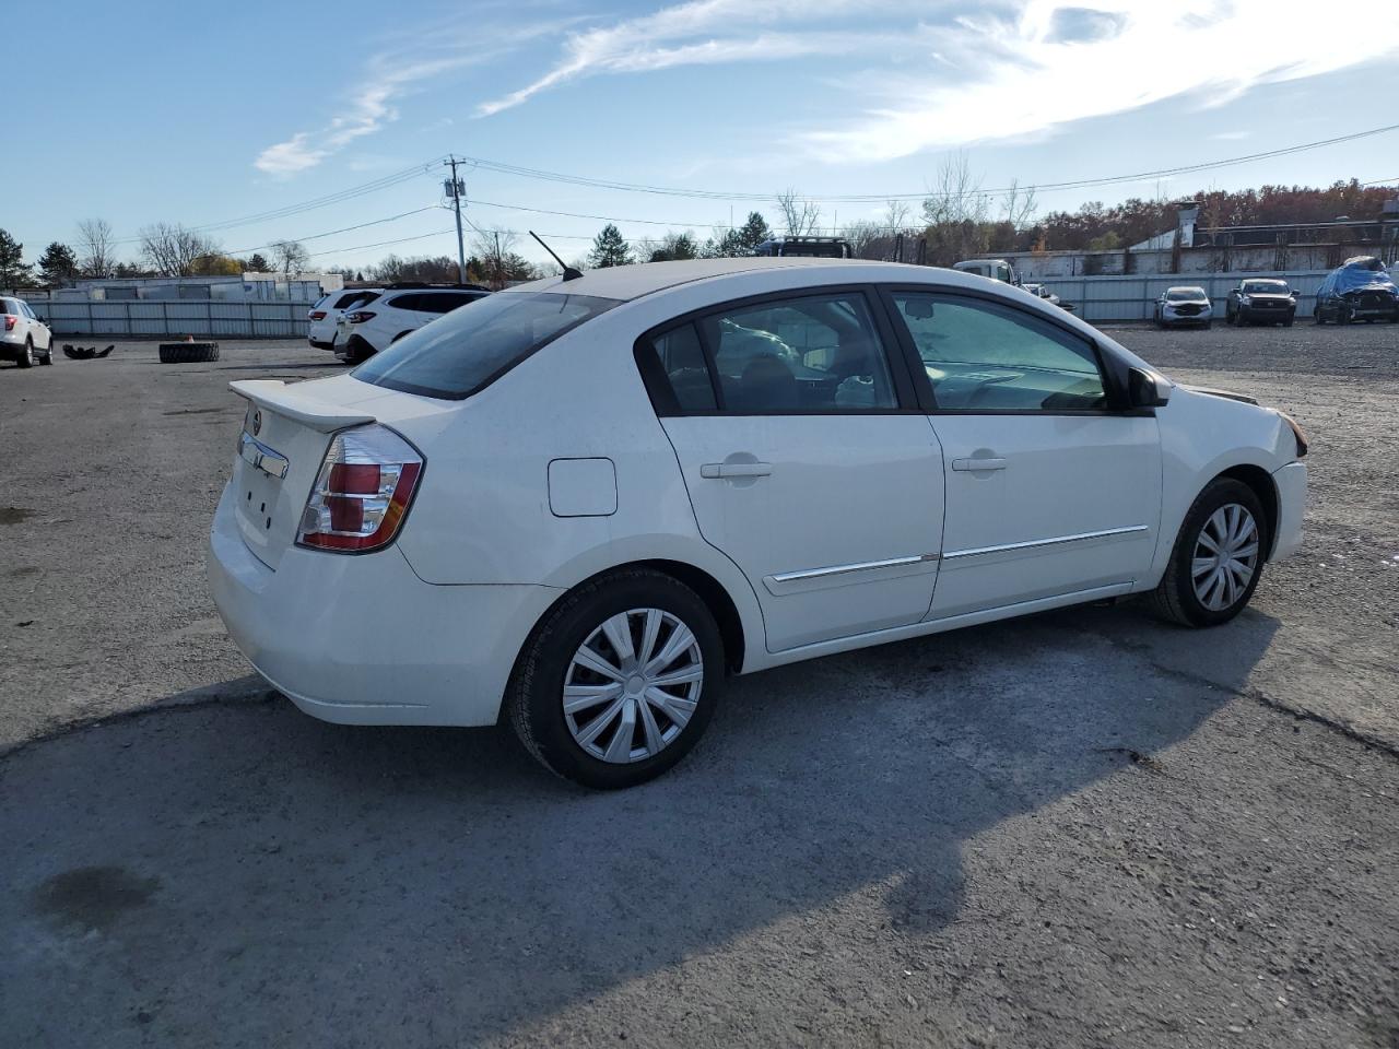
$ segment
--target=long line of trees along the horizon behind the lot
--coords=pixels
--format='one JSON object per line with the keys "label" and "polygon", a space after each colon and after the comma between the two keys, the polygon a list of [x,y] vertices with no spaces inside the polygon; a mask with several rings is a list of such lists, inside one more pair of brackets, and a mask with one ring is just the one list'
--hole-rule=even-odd
{"label": "long line of trees along the horizon behind the lot", "polygon": [[[915,211],[907,200],[890,200],[884,211],[835,227],[823,225],[821,206],[795,189],[775,200],[778,228],[789,236],[825,234],[851,243],[859,259],[898,259],[951,266],[961,259],[1004,252],[1114,250],[1146,241],[1172,229],[1181,200],[1200,206],[1199,225],[1283,225],[1325,222],[1340,217],[1375,218],[1392,187],[1363,186],[1356,179],[1336,182],[1325,189],[1309,186],[1265,185],[1247,190],[1209,190],[1196,194],[1132,197],[1105,206],[1088,201],[1074,210],[1049,211],[1039,217],[1032,186],[1011,182],[1009,189],[989,193],[972,172],[967,154],[943,159],[928,196]],[[832,215],[834,220],[834,215]],[[700,239],[693,231],[669,231],[656,238],[628,242],[614,222],[593,238],[592,248],[579,267],[625,266],[638,262],[676,259],[723,259],[751,255],[754,248],[774,236],[774,229],[760,211],[751,211],[739,227],[720,227]],[[915,253],[914,245],[922,242]],[[501,288],[506,284],[558,273],[553,263],[527,262],[516,250],[518,235],[509,229],[477,228],[466,263],[466,278],[476,284]],[[35,263],[24,260],[24,245],[0,229],[0,287],[25,287],[42,283],[57,287],[77,277],[187,277],[236,276],[239,273],[294,273],[311,262],[305,246],[297,241],[278,241],[267,255],[255,252],[234,257],[221,245],[178,222],[155,222],[141,229],[139,259],[118,259],[112,227],[101,218],[78,222],[73,245],[49,243]],[[400,259],[389,255],[378,264],[360,270],[330,267],[329,273],[350,280],[428,281],[457,280],[456,260],[450,256]]]}

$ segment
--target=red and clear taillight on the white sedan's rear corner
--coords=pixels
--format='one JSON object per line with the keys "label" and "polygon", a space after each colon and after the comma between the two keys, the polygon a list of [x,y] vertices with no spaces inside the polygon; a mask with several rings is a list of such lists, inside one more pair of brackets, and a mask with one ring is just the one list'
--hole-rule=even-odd
{"label": "red and clear taillight on the white sedan's rear corner", "polygon": [[422,456],[388,427],[336,434],[301,515],[297,543],[364,552],[393,541],[422,476]]}

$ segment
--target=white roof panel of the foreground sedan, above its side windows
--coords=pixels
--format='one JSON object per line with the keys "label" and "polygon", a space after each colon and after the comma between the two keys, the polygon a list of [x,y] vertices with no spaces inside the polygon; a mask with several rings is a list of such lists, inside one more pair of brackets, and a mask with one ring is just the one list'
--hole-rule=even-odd
{"label": "white roof panel of the foreground sedan, above its side windows", "polygon": [[985,277],[935,266],[869,262],[865,259],[744,256],[740,259],[688,259],[684,262],[609,266],[599,270],[585,270],[582,277],[575,277],[571,281],[565,281],[561,277],[548,277],[541,281],[518,284],[497,294],[518,295],[520,292],[558,291],[571,295],[593,295],[630,302],[681,284],[693,284],[694,281],[737,281],[744,274],[767,270],[811,270],[811,276],[823,284],[839,280],[848,280],[851,284],[869,281],[905,284],[939,283],[965,288],[985,288],[988,284]]}

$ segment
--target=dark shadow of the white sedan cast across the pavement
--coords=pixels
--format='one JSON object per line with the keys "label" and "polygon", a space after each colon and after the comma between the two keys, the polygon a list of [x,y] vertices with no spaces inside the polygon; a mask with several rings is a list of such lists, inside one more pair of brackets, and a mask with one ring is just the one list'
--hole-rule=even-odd
{"label": "dark shadow of the white sedan cast across the pavement", "polygon": [[[0,1041],[456,1045],[789,919],[793,957],[839,951],[799,919],[855,892],[879,898],[869,937],[936,932],[971,839],[1168,769],[1276,627],[1081,608],[755,674],[621,793],[505,729],[280,698],[76,732],[0,766],[0,937],[29,944],[0,958]],[[1185,645],[1212,659],[1175,666]]]}

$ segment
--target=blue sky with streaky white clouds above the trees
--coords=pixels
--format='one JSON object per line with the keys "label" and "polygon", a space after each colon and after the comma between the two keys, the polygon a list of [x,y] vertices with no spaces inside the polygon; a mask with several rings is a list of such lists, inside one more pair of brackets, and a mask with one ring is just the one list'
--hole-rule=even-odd
{"label": "blue sky with streaky white clouds above the trees", "polygon": [[[241,256],[301,239],[312,269],[452,255],[442,161],[455,154],[491,165],[460,172],[469,236],[513,231],[543,260],[534,229],[574,260],[604,218],[628,239],[704,239],[753,208],[774,221],[772,197],[789,189],[821,197],[823,227],[874,220],[884,197],[929,190],[957,155],[995,190],[1399,124],[1399,6],[1365,6],[1364,32],[1314,32],[1316,11],[1314,0],[11,4],[0,228],[28,262],[50,241],[76,243],[91,217],[132,260],[157,221]],[[1350,178],[1399,185],[1399,130],[1037,199],[1045,213]]]}

